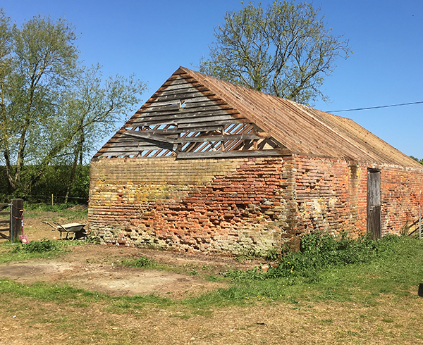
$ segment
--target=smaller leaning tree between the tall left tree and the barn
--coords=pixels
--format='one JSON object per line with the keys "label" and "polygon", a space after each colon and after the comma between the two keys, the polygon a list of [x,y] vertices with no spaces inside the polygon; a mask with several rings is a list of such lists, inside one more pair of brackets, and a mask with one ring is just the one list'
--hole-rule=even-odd
{"label": "smaller leaning tree between the tall left tree and the barn", "polygon": [[[102,82],[99,65],[85,68],[73,92],[68,94],[63,113],[66,114],[66,125],[62,140],[56,141],[54,152],[63,151],[72,159],[70,182],[66,192],[65,203],[77,172],[77,165],[83,165],[85,155],[92,153],[96,143],[115,130],[116,121],[123,120],[121,114],[127,113],[138,103],[137,97],[145,90],[145,84],[135,80],[131,75],[109,77]],[[51,153],[50,153],[51,154]],[[47,160],[46,160],[47,158]],[[49,155],[44,158],[49,161]]]}

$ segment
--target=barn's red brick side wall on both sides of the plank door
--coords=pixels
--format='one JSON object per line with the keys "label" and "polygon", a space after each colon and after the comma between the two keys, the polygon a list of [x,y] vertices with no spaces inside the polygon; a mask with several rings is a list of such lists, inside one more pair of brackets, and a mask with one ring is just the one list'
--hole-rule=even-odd
{"label": "barn's red brick side wall on both sides of the plank door", "polygon": [[367,169],[381,170],[382,234],[398,234],[418,217],[423,171],[295,156],[296,232],[367,231]]}

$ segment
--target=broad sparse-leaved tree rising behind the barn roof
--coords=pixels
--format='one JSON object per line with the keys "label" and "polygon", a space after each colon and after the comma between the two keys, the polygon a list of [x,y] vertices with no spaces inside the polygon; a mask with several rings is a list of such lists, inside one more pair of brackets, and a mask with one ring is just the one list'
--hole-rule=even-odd
{"label": "broad sparse-leaved tree rising behind the barn roof", "polygon": [[258,91],[309,104],[321,97],[324,78],[348,41],[331,34],[320,9],[294,1],[274,1],[266,10],[250,3],[228,12],[215,29],[216,42],[200,71]]}

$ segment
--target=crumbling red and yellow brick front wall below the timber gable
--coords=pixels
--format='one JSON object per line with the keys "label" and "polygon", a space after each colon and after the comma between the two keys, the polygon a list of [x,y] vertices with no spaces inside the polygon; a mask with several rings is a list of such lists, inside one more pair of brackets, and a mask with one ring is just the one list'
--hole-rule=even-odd
{"label": "crumbling red and yellow brick front wall below the timber gable", "polygon": [[290,239],[282,158],[92,163],[90,229],[104,242],[247,253]]}

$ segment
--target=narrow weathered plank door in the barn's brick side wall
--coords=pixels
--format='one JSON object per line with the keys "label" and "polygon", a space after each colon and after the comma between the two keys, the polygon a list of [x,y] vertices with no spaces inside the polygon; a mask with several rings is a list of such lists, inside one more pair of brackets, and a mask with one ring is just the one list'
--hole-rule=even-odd
{"label": "narrow weathered plank door in the barn's brick side wall", "polygon": [[381,171],[367,170],[367,232],[381,238]]}

